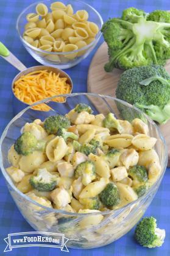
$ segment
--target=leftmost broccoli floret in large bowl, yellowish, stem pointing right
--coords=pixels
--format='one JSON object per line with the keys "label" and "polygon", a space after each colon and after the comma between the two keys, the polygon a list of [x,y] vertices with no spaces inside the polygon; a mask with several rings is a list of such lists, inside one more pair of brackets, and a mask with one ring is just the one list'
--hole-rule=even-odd
{"label": "leftmost broccoli floret in large bowl, yellowish, stem pointing right", "polygon": [[29,155],[34,151],[44,151],[46,142],[37,141],[37,138],[30,132],[23,134],[15,141],[14,149],[19,155]]}

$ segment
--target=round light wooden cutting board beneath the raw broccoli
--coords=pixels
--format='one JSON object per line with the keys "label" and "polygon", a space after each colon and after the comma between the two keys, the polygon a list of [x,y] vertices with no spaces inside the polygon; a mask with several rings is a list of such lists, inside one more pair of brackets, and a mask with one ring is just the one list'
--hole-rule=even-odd
{"label": "round light wooden cutting board beneath the raw broccoli", "polygon": [[[88,92],[116,97],[115,91],[122,71],[115,68],[112,73],[105,72],[104,65],[107,62],[107,44],[103,43],[94,55],[90,68],[88,69]],[[170,60],[165,68],[170,73]],[[168,123],[161,125],[160,129],[168,144],[168,166],[170,166],[170,120]]]}

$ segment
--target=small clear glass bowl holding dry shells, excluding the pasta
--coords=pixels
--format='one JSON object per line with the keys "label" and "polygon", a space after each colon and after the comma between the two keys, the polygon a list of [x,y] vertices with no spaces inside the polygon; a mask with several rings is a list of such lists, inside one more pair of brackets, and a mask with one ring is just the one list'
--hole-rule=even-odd
{"label": "small clear glass bowl holding dry shells, excluding the pasta", "polygon": [[[51,3],[55,1],[46,0],[46,1],[40,1],[40,2],[43,2],[44,4],[46,4],[49,9]],[[88,56],[88,54],[90,54],[90,52],[96,46],[97,42],[99,41],[102,35],[101,28],[102,28],[103,20],[101,15],[93,7],[86,4],[85,2],[82,2],[79,0],[62,0],[62,2],[63,4],[71,4],[73,6],[74,12],[77,10],[87,10],[89,15],[88,20],[93,21],[99,27],[99,32],[96,35],[95,40],[92,41],[87,46],[71,52],[48,52],[48,51],[43,51],[41,49],[35,48],[31,44],[27,43],[23,39],[24,26],[27,23],[26,15],[28,13],[35,13],[35,7],[38,4],[38,2],[35,2],[34,4],[29,5],[26,9],[23,10],[23,12],[21,12],[21,14],[18,16],[18,19],[16,21],[16,30],[18,31],[19,38],[23,43],[24,47],[29,52],[29,54],[32,55],[32,57],[34,57],[35,60],[37,60],[37,62],[40,62],[43,65],[54,66],[55,68],[65,69],[65,68],[71,68],[72,66],[77,65],[79,62],[85,59]],[[68,59],[69,54],[76,54],[79,57],[76,57],[74,59]]]}

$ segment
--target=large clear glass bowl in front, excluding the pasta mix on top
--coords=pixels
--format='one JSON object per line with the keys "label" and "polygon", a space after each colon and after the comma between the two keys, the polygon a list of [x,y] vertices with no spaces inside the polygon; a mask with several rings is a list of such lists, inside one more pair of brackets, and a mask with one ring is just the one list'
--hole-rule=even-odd
{"label": "large clear glass bowl in front, excluding the pasta mix on top", "polygon": [[[69,238],[67,243],[68,247],[87,249],[105,246],[106,244],[117,240],[132,229],[141,216],[143,216],[149,204],[151,204],[151,201],[160,186],[160,182],[163,178],[167,165],[168,153],[165,140],[156,124],[146,115],[142,114],[149,126],[150,135],[158,139],[155,145],[155,150],[160,158],[161,175],[157,182],[155,182],[154,186],[152,186],[144,196],[138,198],[136,201],[133,201],[118,210],[108,210],[107,212],[87,214],[68,213],[63,210],[55,210],[53,208],[43,206],[41,207],[40,204],[32,201],[32,199],[26,196],[26,194],[21,193],[15,187],[9,175],[5,171],[5,168],[9,166],[9,162],[7,160],[8,150],[20,135],[21,127],[23,127],[26,122],[32,122],[35,118],[44,120],[47,116],[54,115],[55,113],[64,115],[74,108],[78,102],[89,104],[95,115],[97,113],[103,113],[106,115],[108,112],[113,112],[117,118],[122,119],[117,108],[118,104],[121,104],[121,107],[124,107],[127,110],[127,113],[129,113],[133,118],[136,117],[136,114],[141,115],[142,113],[132,105],[110,96],[79,93],[65,94],[57,96],[57,98],[63,96],[67,97],[66,102],[64,103],[54,102],[51,101],[52,98],[49,98],[34,104],[37,105],[45,102],[49,107],[51,107],[49,112],[32,110],[32,105],[30,105],[10,121],[2,133],[0,140],[0,165],[2,174],[5,177],[7,187],[9,188],[10,194],[12,195],[20,212],[26,221],[29,222],[30,226],[35,230],[40,232],[64,233],[65,236]],[[41,208],[37,208],[37,206]],[[104,216],[102,221],[99,224],[87,226],[88,220],[86,218],[92,217],[96,219],[97,215]]]}

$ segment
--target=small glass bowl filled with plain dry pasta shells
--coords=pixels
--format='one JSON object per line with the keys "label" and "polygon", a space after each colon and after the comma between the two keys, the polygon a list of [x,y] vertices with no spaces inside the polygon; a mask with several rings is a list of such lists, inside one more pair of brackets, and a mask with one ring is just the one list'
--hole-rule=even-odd
{"label": "small glass bowl filled with plain dry pasta shells", "polygon": [[65,69],[85,59],[101,37],[101,15],[78,0],[29,5],[16,21],[19,38],[43,65]]}

